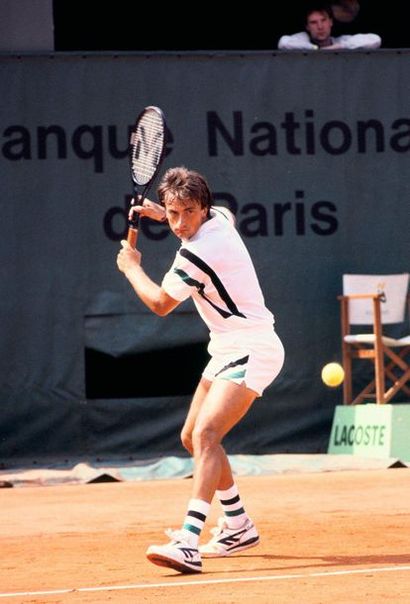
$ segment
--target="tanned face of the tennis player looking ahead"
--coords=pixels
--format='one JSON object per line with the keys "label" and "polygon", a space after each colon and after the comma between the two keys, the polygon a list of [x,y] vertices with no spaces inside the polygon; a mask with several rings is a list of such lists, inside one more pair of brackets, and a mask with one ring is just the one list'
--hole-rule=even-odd
{"label": "tanned face of the tennis player looking ahead", "polygon": [[191,239],[207,218],[207,208],[198,201],[171,198],[165,201],[165,212],[172,232],[179,239]]}

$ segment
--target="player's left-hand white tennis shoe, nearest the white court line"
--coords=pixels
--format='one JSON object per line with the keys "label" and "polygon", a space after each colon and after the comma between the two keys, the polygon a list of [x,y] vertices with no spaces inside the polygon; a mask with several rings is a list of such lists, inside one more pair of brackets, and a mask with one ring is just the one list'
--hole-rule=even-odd
{"label": "player's left-hand white tennis shoe, nearest the white court line", "polygon": [[158,566],[173,568],[180,573],[200,573],[202,571],[201,555],[192,547],[183,532],[167,529],[165,534],[171,539],[167,545],[150,545],[146,556]]}

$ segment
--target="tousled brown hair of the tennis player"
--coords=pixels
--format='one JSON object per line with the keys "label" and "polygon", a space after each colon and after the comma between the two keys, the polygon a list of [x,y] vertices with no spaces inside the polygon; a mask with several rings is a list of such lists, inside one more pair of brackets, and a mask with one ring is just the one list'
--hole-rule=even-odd
{"label": "tousled brown hair of the tennis player", "polygon": [[211,208],[212,194],[206,179],[184,166],[170,168],[164,174],[158,186],[158,199],[164,205],[165,198],[176,197],[181,201],[195,200],[201,208]]}

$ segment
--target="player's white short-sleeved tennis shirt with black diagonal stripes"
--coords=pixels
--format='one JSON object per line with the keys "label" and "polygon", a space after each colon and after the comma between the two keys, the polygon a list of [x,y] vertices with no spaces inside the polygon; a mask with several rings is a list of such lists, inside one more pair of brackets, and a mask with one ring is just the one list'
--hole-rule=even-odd
{"label": "player's white short-sleeved tennis shirt with black diagonal stripes", "polygon": [[191,296],[211,334],[264,325],[272,329],[274,317],[226,208],[213,207],[211,218],[182,241],[162,288],[181,302]]}

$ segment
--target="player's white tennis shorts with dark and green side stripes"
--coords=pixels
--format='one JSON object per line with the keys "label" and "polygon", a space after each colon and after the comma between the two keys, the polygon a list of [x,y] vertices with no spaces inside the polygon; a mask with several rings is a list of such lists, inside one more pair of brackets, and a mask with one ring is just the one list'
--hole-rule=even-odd
{"label": "player's white tennis shorts with dark and green side stripes", "polygon": [[202,373],[205,379],[245,383],[258,396],[273,382],[285,360],[282,342],[269,327],[212,334],[208,352],[211,360]]}

